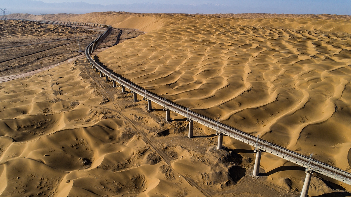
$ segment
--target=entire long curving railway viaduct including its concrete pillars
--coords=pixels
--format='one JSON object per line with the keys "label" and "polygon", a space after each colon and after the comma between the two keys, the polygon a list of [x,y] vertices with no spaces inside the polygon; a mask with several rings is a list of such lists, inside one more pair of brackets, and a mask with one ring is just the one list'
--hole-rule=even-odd
{"label": "entire long curving railway viaduct including its concrete pillars", "polygon": [[218,149],[222,148],[222,140],[223,135],[230,136],[235,138],[241,142],[249,144],[255,147],[256,152],[256,160],[253,169],[253,176],[258,176],[258,169],[260,164],[260,157],[261,151],[265,151],[276,155],[280,158],[284,158],[287,161],[293,162],[298,164],[302,167],[306,168],[306,178],[304,182],[304,186],[301,192],[301,197],[306,197],[308,193],[308,189],[310,186],[311,175],[313,172],[317,172],[319,174],[331,177],[336,179],[340,182],[346,183],[351,185],[351,173],[328,165],[326,163],[317,161],[316,159],[312,158],[312,155],[305,156],[299,154],[297,152],[288,150],[284,147],[276,145],[274,143],[262,140],[260,138],[255,137],[253,135],[247,134],[244,131],[239,129],[230,127],[219,121],[213,120],[206,116],[194,113],[188,108],[180,106],[176,103],[166,100],[163,97],[155,95],[142,87],[138,86],[137,84],[133,84],[128,79],[125,79],[121,75],[114,73],[112,70],[108,69],[107,67],[101,66],[99,63],[95,62],[92,58],[92,53],[97,49],[97,47],[101,44],[104,39],[112,33],[112,26],[103,25],[103,24],[95,24],[95,23],[81,23],[81,22],[64,22],[64,21],[45,21],[45,20],[32,20],[32,19],[7,19],[7,20],[24,20],[24,21],[33,21],[33,22],[41,22],[41,23],[48,23],[48,24],[56,24],[56,25],[69,25],[69,26],[79,26],[79,27],[95,27],[95,28],[102,28],[106,29],[104,33],[102,33],[97,39],[91,42],[85,49],[85,55],[87,60],[92,65],[92,68],[95,69],[95,72],[100,72],[100,76],[103,77],[105,75],[106,80],[112,80],[113,87],[116,87],[116,83],[119,83],[122,87],[122,91],[125,91],[125,88],[131,90],[133,94],[134,101],[137,101],[137,94],[143,96],[145,100],[148,102],[148,110],[151,110],[151,102],[157,103],[160,106],[164,107],[166,111],[166,121],[170,120],[170,110],[178,113],[187,118],[189,122],[189,134],[188,137],[191,138],[193,136],[193,121],[198,122],[200,124],[205,125],[208,128],[216,130],[216,135],[218,135]]}

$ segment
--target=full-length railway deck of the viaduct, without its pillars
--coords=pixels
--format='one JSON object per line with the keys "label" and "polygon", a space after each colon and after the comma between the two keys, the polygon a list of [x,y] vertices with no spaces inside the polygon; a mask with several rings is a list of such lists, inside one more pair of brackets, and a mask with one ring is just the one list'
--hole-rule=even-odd
{"label": "full-length railway deck of the viaduct, without its pillars", "polygon": [[[257,137],[247,134],[244,131],[239,129],[230,127],[223,123],[218,123],[217,121],[208,118],[206,116],[194,113],[193,111],[187,110],[187,108],[180,106],[172,101],[168,101],[167,99],[160,97],[156,94],[153,94],[142,87],[139,87],[136,84],[133,84],[128,79],[121,77],[119,74],[114,73],[112,70],[102,67],[100,64],[95,62],[91,57],[91,54],[97,49],[97,47],[101,44],[101,42],[112,32],[112,27],[109,25],[95,24],[95,23],[80,23],[80,22],[64,22],[64,21],[43,21],[43,20],[32,20],[32,19],[7,19],[7,20],[26,20],[26,21],[34,21],[34,22],[42,22],[49,24],[57,24],[57,25],[73,25],[73,26],[82,26],[82,27],[99,27],[107,29],[104,33],[102,33],[97,39],[91,42],[85,49],[85,55],[88,61],[93,65],[93,67],[97,68],[100,72],[104,73],[106,76],[110,77],[115,82],[119,83],[121,86],[124,86],[130,89],[132,92],[135,92],[141,96],[144,96],[145,99],[151,100],[154,103],[159,104],[167,109],[170,109],[184,117],[187,117],[193,121],[196,121],[200,124],[205,125],[206,127],[212,128],[219,133],[223,133],[227,136],[236,138],[244,143],[250,144],[252,146],[256,145]],[[338,181],[347,183],[351,185],[351,173],[346,172],[344,170],[335,168],[331,165],[328,165],[324,162],[317,161],[316,159],[311,159],[309,164],[310,157],[299,154],[297,152],[291,151],[284,147],[281,147],[277,144],[258,139],[257,146],[271,154],[279,156],[281,158],[286,159],[287,161],[294,162],[303,167],[309,167],[311,170],[318,172],[320,174],[326,175]]]}

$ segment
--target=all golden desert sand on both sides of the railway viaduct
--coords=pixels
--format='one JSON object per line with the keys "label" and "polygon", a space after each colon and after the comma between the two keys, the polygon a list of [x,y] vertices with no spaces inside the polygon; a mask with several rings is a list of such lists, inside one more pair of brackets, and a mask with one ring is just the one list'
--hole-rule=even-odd
{"label": "all golden desert sand on both sides of the railway viaduct", "polygon": [[[193,111],[350,171],[349,16],[47,17],[147,32],[95,58]],[[197,124],[188,139],[184,117],[148,113],[84,59],[0,86],[2,196],[297,196],[303,185],[303,167],[266,153],[253,178],[252,147],[224,137],[217,151],[214,131]],[[314,174],[309,195],[349,191]]]}

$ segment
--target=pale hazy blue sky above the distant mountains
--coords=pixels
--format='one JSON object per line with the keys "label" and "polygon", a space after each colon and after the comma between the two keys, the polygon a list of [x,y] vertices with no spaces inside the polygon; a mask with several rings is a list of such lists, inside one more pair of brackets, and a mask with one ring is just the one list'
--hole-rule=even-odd
{"label": "pale hazy blue sky above the distant mountains", "polygon": [[[158,4],[220,4],[245,7],[253,12],[286,14],[351,14],[351,0],[41,0],[44,2],[86,2],[112,5],[152,2]],[[266,9],[265,9],[266,8]],[[276,11],[276,12],[274,12]],[[310,12],[309,12],[310,11]]]}

